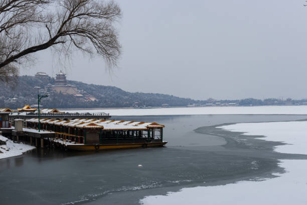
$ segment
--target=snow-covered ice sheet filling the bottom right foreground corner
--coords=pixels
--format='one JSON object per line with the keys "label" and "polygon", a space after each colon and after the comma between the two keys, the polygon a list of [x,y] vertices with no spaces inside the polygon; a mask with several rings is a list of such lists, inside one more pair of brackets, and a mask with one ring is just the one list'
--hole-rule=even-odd
{"label": "snow-covered ice sheet filling the bottom right foreground corner", "polygon": [[146,196],[141,204],[307,204],[307,160],[282,160],[287,172],[265,181],[240,181],[219,186],[183,188],[167,195]]}

